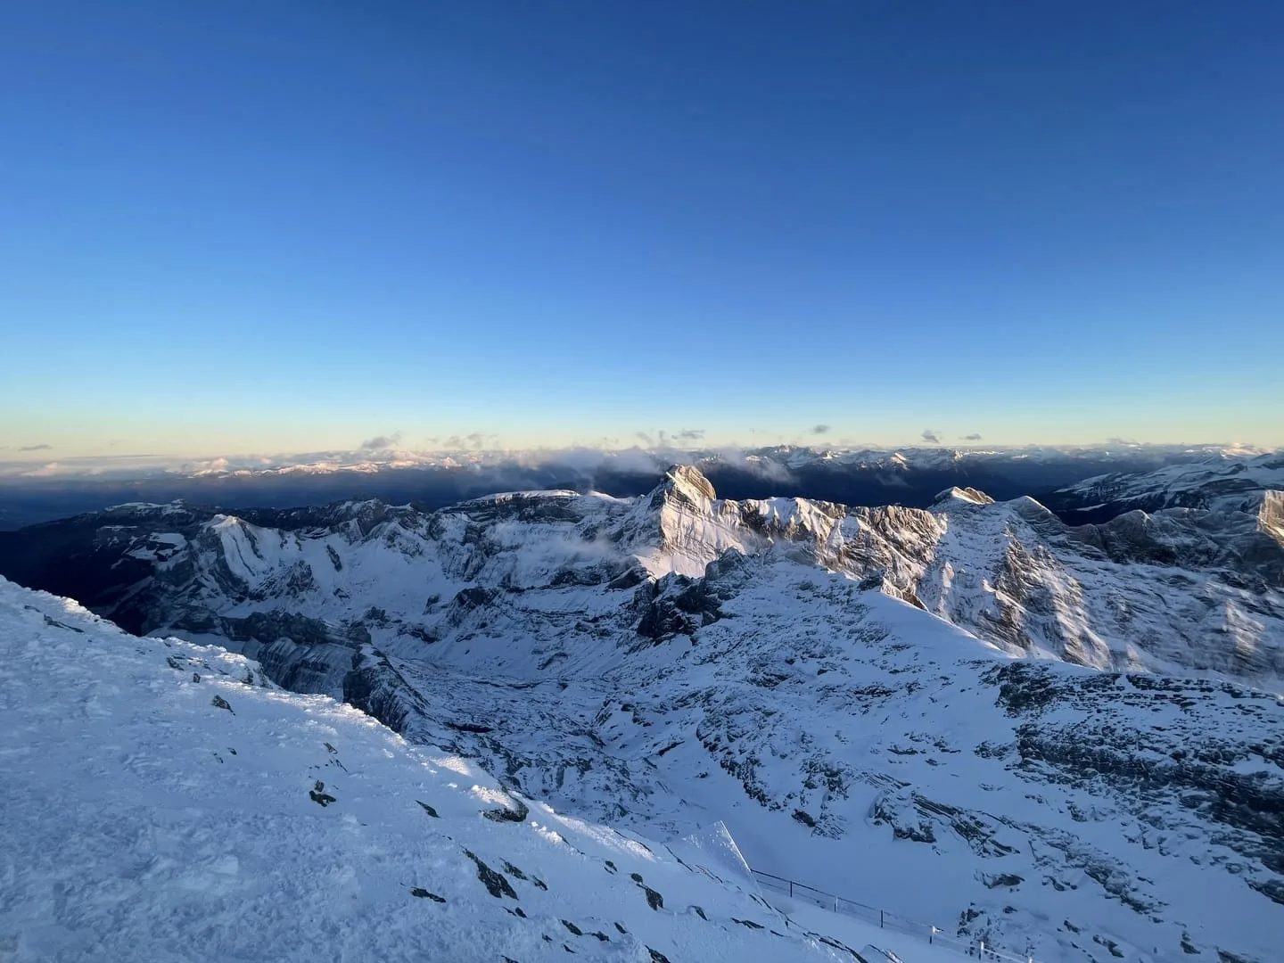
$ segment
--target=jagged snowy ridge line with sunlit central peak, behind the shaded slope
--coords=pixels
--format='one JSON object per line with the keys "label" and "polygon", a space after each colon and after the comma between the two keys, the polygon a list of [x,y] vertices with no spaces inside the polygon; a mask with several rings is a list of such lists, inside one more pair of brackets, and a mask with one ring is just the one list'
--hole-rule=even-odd
{"label": "jagged snowy ridge line with sunlit central peak, behind the shaded slope", "polygon": [[[575,605],[592,596],[594,612],[629,629],[639,606],[661,605],[645,596],[663,597],[666,577],[698,578],[729,550],[778,546],[1013,654],[1211,672],[1275,691],[1281,498],[1258,490],[1072,528],[1031,498],[994,503],[975,489],[944,492],[926,510],[725,501],[679,466],[639,499],[533,492],[430,514],[361,502],[245,517],[126,505],[54,525],[81,539],[54,564],[81,566],[94,580],[74,586],[81,597],[140,630],[227,634],[250,615],[288,611],[360,624],[386,646],[466,634],[473,609],[493,620],[497,609],[525,607],[528,591],[584,589]],[[32,532],[41,544],[62,541]]]}

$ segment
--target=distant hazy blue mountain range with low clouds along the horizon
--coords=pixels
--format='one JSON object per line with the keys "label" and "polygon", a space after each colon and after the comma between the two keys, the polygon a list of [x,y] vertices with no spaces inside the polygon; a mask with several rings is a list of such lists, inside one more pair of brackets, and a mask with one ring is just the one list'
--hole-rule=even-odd
{"label": "distant hazy blue mountain range with low clouds along the horizon", "polygon": [[[229,510],[320,506],[344,499],[442,508],[502,490],[648,492],[672,464],[697,466],[729,498],[774,496],[841,505],[927,507],[950,487],[999,501],[1022,494],[1053,511],[1081,507],[1061,488],[1097,475],[1144,474],[1168,465],[1263,453],[1225,446],[1117,443],[1021,448],[854,448],[772,446],[752,449],[609,452],[591,448],[528,453],[394,449],[318,452],[293,457],[67,460],[0,462],[0,530],[121,502],[182,499]],[[1082,520],[1095,521],[1097,517]]]}

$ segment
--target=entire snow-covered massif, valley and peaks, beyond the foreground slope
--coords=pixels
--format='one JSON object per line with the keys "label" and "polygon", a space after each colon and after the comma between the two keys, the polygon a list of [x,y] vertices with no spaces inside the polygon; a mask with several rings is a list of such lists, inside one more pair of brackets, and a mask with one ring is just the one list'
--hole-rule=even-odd
{"label": "entire snow-covered massif, valley and peaks, beyond the foreground slope", "polygon": [[1278,955],[1280,543],[1249,512],[1071,529],[963,489],[724,501],[678,467],[642,498],[41,533],[103,612],[559,810],[723,819],[758,868],[1043,960]]}

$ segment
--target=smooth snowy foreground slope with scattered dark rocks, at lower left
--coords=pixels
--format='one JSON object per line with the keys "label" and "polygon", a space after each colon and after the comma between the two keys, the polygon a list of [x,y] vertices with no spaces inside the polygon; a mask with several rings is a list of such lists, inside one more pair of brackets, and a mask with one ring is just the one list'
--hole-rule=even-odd
{"label": "smooth snowy foreground slope with scattered dark rocks, at lower left", "polygon": [[225,650],[0,580],[0,665],[3,960],[851,959]]}

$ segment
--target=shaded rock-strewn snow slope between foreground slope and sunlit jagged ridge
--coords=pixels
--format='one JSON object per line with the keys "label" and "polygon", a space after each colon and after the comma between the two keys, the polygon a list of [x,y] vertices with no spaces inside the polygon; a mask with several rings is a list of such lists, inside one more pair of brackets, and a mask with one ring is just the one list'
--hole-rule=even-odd
{"label": "shaded rock-strewn snow slope between foreground slope and sunlit jagged ridge", "polygon": [[570,638],[541,673],[505,623],[392,659],[401,724],[601,818],[725,819],[760,868],[1040,959],[1272,958],[1274,697],[1009,660],[788,559],[692,587],[716,620],[614,663]]}

